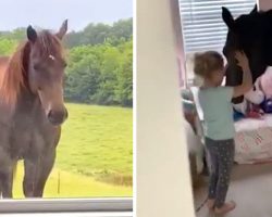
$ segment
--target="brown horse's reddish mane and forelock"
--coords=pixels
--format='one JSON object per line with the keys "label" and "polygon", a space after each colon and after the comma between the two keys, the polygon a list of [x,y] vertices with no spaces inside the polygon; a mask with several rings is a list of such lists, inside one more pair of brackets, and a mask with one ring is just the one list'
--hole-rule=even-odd
{"label": "brown horse's reddish mane and forelock", "polygon": [[[28,40],[22,42],[9,59],[8,65],[0,72],[1,103],[3,102],[12,107],[15,106],[22,89],[28,88],[27,73],[30,43]],[[48,58],[50,54],[55,58],[64,55],[61,41],[49,30],[41,30],[34,46],[40,58]]]}

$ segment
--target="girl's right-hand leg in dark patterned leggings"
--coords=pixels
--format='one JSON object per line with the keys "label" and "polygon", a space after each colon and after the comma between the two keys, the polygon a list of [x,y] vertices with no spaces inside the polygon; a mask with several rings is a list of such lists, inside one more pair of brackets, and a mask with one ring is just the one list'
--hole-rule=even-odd
{"label": "girl's right-hand leg in dark patterned leggings", "polygon": [[225,140],[219,144],[219,180],[214,206],[221,208],[225,203],[234,161],[234,140]]}

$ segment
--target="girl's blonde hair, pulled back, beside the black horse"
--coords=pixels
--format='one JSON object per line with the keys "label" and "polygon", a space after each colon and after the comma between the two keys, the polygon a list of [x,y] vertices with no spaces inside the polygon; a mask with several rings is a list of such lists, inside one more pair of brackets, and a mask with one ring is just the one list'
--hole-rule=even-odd
{"label": "girl's blonde hair, pulled back, beside the black horse", "polygon": [[224,60],[217,51],[196,53],[194,56],[194,72],[202,78],[210,78],[214,71],[224,67]]}

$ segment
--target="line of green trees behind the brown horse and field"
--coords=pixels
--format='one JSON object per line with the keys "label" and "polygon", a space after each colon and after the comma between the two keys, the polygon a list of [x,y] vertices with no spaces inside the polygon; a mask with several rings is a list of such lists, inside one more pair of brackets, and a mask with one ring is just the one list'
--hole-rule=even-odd
{"label": "line of green trees behind the brown horse and field", "polygon": [[[25,28],[0,31],[0,55],[10,55],[25,39]],[[90,23],[64,39],[67,69],[64,97],[69,102],[133,105],[133,20],[112,25]]]}

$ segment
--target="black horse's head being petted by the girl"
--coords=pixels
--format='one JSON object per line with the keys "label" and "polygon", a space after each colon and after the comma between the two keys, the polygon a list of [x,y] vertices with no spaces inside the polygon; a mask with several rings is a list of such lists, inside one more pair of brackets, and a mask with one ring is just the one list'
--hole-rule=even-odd
{"label": "black horse's head being petted by the girl", "polygon": [[[272,65],[272,10],[262,12],[257,5],[249,14],[243,14],[236,20],[226,8],[222,8],[222,18],[228,28],[223,53],[227,60],[226,86],[242,84],[243,73],[234,58],[235,50],[244,50],[256,79]],[[233,99],[234,103],[243,101],[243,97]]]}

